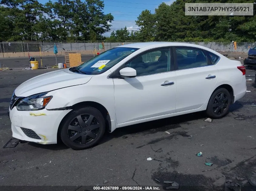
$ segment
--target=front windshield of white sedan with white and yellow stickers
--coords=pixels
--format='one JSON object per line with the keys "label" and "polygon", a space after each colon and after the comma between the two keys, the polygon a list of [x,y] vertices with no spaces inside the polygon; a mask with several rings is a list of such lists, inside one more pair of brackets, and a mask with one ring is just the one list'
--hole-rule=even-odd
{"label": "front windshield of white sedan with white and yellow stickers", "polygon": [[136,50],[138,50],[138,48],[113,48],[93,57],[79,66],[71,68],[70,71],[87,75],[101,74]]}

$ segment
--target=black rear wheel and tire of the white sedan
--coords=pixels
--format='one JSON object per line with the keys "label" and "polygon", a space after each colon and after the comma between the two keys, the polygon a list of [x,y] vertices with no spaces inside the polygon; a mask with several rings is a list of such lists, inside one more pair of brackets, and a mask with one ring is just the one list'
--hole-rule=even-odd
{"label": "black rear wheel and tire of the white sedan", "polygon": [[206,113],[213,119],[224,117],[228,114],[230,104],[231,96],[228,90],[225,88],[219,88],[212,93]]}

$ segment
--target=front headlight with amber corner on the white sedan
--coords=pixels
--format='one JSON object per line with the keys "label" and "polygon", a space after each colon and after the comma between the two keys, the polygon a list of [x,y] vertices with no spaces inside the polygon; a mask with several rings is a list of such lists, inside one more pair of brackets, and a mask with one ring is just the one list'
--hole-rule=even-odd
{"label": "front headlight with amber corner on the white sedan", "polygon": [[50,102],[52,96],[45,96],[48,92],[25,97],[20,100],[16,107],[21,111],[41,110]]}

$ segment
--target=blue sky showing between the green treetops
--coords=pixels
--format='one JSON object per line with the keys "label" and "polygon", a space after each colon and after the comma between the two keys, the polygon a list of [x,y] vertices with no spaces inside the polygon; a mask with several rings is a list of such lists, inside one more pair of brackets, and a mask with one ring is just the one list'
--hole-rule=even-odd
{"label": "blue sky showing between the green treetops", "polygon": [[[52,0],[54,2],[54,0]],[[138,26],[135,23],[137,17],[141,11],[148,9],[152,13],[155,13],[155,8],[162,2],[171,5],[175,0],[104,0],[104,13],[111,13],[114,16],[114,21],[110,23],[111,29],[114,31],[124,28],[125,26],[129,30],[138,30]],[[38,0],[38,2],[45,4],[48,0]],[[110,36],[113,31],[105,33],[105,36]]]}

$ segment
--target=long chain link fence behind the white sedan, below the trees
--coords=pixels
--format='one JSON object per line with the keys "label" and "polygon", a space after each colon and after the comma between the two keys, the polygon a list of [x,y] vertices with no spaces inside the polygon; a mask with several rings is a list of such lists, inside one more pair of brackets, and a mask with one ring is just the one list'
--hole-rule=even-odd
{"label": "long chain link fence behind the white sedan, below the trees", "polygon": [[[104,42],[105,50],[120,46],[123,44],[136,43],[134,41],[127,41],[123,43],[111,43]],[[181,43],[191,43],[207,48],[213,49],[218,52],[237,52],[237,53],[247,53],[251,47],[256,46],[256,42],[237,42],[237,47],[234,49],[232,42],[181,42]],[[60,51],[76,51],[81,52],[84,50],[90,51],[100,51],[101,42],[93,43],[91,41],[77,41],[77,42],[59,42],[56,41],[56,46],[58,52]],[[2,42],[0,43],[1,53],[25,53],[25,52],[39,52],[39,47],[41,47],[42,52],[53,52],[53,42]]]}

